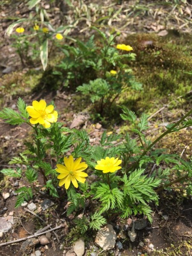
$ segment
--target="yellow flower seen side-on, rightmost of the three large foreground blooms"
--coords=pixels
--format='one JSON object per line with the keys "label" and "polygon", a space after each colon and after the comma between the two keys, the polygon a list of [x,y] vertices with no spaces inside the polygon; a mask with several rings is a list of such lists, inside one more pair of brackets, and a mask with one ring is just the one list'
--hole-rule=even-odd
{"label": "yellow flower seen side-on, rightmost of the three large foreground blooms", "polygon": [[106,157],[105,159],[101,159],[97,161],[97,165],[95,166],[96,170],[101,170],[103,173],[107,172],[115,172],[119,169],[121,169],[121,166],[119,164],[122,163],[122,160],[119,160],[119,157],[115,159],[115,157]]}

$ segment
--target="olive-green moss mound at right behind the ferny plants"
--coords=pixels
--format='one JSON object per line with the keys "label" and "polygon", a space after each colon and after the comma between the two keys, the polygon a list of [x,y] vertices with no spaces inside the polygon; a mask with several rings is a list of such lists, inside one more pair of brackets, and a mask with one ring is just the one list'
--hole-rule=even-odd
{"label": "olive-green moss mound at right behind the ferny plants", "polygon": [[127,44],[134,47],[136,61],[130,66],[143,91],[121,96],[120,103],[136,112],[153,112],[154,106],[167,104],[191,90],[192,37],[189,35],[159,37],[156,34],[129,35]]}

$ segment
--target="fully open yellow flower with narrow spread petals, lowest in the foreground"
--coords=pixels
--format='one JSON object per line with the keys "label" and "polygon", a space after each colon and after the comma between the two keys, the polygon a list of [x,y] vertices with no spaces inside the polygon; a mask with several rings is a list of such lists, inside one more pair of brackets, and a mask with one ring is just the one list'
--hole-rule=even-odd
{"label": "fully open yellow flower with narrow spread petals, lowest in the foreground", "polygon": [[82,172],[87,169],[87,164],[81,162],[81,157],[77,158],[74,162],[73,156],[70,155],[69,158],[64,157],[64,166],[62,164],[57,164],[56,172],[59,172],[60,175],[57,176],[59,179],[59,186],[63,186],[65,184],[65,189],[68,189],[70,183],[72,181],[73,186],[78,188],[77,180],[81,183],[85,182],[85,177],[87,177],[87,173]]}

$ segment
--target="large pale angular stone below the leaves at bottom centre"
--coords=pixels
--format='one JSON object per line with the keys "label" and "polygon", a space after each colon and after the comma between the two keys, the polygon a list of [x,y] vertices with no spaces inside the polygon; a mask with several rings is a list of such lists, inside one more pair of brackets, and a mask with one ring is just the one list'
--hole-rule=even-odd
{"label": "large pale angular stone below the leaves at bottom centre", "polygon": [[116,233],[113,230],[113,226],[111,224],[106,225],[101,228],[97,234],[95,242],[98,244],[103,250],[111,250],[115,247],[116,241]]}

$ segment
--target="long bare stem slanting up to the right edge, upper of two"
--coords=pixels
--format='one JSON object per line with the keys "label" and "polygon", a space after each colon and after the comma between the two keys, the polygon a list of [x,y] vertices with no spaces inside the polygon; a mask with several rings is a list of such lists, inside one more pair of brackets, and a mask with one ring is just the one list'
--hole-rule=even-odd
{"label": "long bare stem slanting up to the right edge, upper of two", "polygon": [[189,111],[188,113],[186,113],[185,116],[183,116],[178,122],[175,123],[175,125],[172,126],[171,129],[168,129],[167,131],[165,131],[163,134],[161,134],[156,140],[154,140],[153,143],[151,143],[144,151],[143,153],[140,155],[139,159],[137,160],[137,162],[135,162],[132,166],[130,166],[130,168],[128,169],[128,171],[130,171],[131,169],[135,169],[139,162],[140,162],[140,159],[149,151],[150,148],[152,148],[160,139],[162,139],[164,136],[166,136],[167,134],[169,133],[172,133],[174,132],[173,129],[175,127],[177,127],[177,125],[179,125],[184,119],[186,119],[187,116],[189,116],[190,114],[192,113],[192,110]]}

